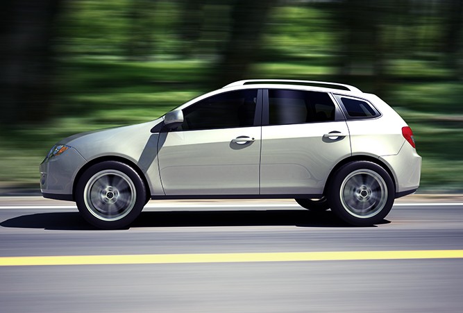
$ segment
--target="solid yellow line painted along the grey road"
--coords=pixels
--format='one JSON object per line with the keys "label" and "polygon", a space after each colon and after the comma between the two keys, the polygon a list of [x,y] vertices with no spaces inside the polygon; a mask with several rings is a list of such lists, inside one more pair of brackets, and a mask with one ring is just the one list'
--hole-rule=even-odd
{"label": "solid yellow line painted along the grey road", "polygon": [[463,250],[203,253],[144,255],[58,255],[40,257],[0,257],[0,267],[38,265],[295,262],[454,258],[463,258]]}

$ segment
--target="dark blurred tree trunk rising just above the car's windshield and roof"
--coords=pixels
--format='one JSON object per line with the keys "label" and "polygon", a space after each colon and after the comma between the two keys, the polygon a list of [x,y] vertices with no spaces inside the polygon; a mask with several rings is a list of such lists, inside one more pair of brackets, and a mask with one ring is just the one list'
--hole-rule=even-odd
{"label": "dark blurred tree trunk rising just above the car's windshield and roof", "polygon": [[214,87],[250,78],[249,69],[260,52],[260,39],[270,9],[276,0],[235,0],[231,7],[228,42],[217,72],[212,76]]}

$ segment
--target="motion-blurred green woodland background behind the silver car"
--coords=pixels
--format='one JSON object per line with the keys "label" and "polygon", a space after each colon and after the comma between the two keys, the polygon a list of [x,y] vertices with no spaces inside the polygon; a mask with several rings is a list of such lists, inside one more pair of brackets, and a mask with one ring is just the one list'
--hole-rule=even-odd
{"label": "motion-blurred green woodland background behind the silver car", "polygon": [[462,0],[6,0],[0,194],[63,137],[244,78],[356,85],[414,130],[421,192],[463,191]]}

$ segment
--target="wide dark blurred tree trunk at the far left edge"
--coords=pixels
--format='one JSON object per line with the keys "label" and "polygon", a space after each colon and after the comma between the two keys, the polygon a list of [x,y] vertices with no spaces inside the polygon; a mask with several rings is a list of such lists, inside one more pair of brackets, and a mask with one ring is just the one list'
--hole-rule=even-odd
{"label": "wide dark blurred tree trunk at the far left edge", "polygon": [[42,122],[53,96],[54,22],[60,0],[2,3],[0,94],[4,128]]}

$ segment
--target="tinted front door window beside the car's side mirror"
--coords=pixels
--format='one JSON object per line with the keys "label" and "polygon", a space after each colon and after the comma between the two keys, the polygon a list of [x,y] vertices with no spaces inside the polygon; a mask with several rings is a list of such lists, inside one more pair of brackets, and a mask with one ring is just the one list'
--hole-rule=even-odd
{"label": "tinted front door window beside the car's side mirror", "polygon": [[178,130],[253,126],[258,90],[225,92],[183,110]]}

